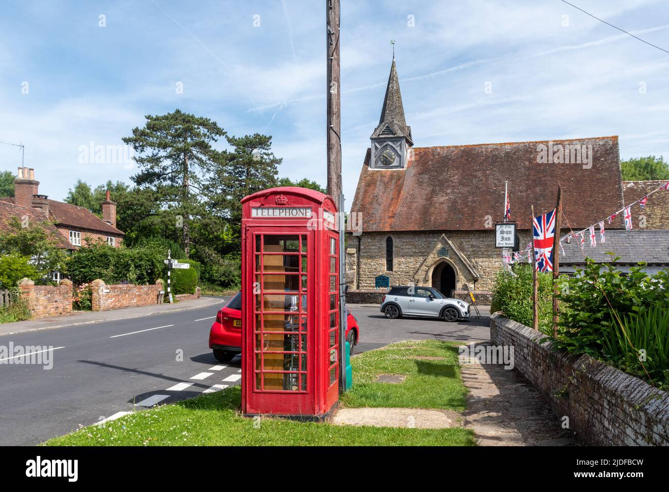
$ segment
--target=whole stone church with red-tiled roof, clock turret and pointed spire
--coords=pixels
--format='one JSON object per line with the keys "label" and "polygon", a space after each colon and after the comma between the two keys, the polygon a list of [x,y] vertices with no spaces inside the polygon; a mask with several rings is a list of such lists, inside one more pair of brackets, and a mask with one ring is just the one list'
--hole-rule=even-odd
{"label": "whole stone church with red-tiled roof, clock turret and pointed spire", "polygon": [[[514,251],[530,242],[531,206],[535,215],[553,210],[558,185],[562,234],[620,210],[630,201],[625,189],[635,189],[621,179],[617,136],[415,147],[420,135],[405,120],[394,58],[370,140],[351,206],[362,232],[347,237],[352,302],[371,299],[355,293],[375,289],[385,276],[391,285],[433,286],[447,296],[478,292],[487,303],[502,268],[494,224],[503,220],[506,183]],[[657,227],[669,225],[661,222]],[[607,228],[624,229],[622,218]]]}

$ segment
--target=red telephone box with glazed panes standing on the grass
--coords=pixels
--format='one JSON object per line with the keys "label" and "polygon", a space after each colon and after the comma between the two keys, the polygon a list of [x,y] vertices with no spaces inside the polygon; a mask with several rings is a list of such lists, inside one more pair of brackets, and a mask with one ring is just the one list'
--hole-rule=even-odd
{"label": "red telephone box with glazed panes standing on the grass", "polygon": [[242,199],[242,411],[326,418],[339,401],[339,233],[328,195]]}

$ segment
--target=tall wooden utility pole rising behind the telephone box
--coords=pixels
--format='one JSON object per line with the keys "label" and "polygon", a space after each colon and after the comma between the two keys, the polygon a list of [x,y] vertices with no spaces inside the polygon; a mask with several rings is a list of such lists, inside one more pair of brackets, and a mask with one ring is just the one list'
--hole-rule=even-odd
{"label": "tall wooden utility pole rising behind the telephone box", "polygon": [[[328,133],[328,195],[339,206],[341,194],[341,98],[339,65],[339,0],[325,0],[327,21],[327,133]],[[343,212],[343,211],[342,211]]]}

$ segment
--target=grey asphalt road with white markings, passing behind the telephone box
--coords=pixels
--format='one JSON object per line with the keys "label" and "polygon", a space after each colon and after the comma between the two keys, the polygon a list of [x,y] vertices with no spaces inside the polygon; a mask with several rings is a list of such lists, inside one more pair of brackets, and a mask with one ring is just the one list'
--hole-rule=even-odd
{"label": "grey asphalt road with white markings, passing behind the telephone box", "polygon": [[[0,363],[0,444],[39,444],[136,410],[135,404],[165,404],[239,384],[239,357],[218,363],[207,346],[222,305],[0,337],[4,346],[62,347],[51,352],[50,370]],[[377,307],[352,306],[351,312],[361,325],[355,353],[403,339],[488,339],[487,318],[446,323],[386,320]]]}

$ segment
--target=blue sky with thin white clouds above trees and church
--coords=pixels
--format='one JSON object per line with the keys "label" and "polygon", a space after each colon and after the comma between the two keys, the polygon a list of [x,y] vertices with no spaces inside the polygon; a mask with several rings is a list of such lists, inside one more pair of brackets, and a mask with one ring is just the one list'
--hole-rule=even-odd
{"label": "blue sky with thin white clouds above trees and church", "polygon": [[[622,158],[669,158],[669,54],[559,0],[341,3],[347,208],[390,39],[416,147],[619,135]],[[669,50],[666,0],[572,3]],[[6,2],[0,141],[23,142],[40,192],[62,199],[76,179],[136,172],[80,163],[82,145],[119,145],[145,114],[181,108],[272,135],[281,176],[325,184],[324,29],[322,0]],[[0,145],[0,169],[20,163]]]}

